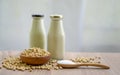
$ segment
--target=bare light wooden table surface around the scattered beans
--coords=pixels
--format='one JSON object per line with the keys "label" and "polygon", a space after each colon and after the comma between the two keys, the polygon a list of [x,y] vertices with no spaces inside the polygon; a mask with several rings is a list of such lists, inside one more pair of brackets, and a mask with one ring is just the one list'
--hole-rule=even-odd
{"label": "bare light wooden table surface around the scattered beans", "polygon": [[[9,55],[19,55],[20,51],[0,51],[0,59]],[[110,66],[110,69],[99,69],[90,67],[80,67],[75,69],[63,70],[34,70],[29,71],[12,71],[5,68],[0,69],[0,75],[120,75],[120,53],[80,53],[80,52],[67,52],[65,59],[75,57],[101,57],[103,64]],[[0,60],[2,62],[2,60]],[[0,63],[1,65],[1,63]]]}

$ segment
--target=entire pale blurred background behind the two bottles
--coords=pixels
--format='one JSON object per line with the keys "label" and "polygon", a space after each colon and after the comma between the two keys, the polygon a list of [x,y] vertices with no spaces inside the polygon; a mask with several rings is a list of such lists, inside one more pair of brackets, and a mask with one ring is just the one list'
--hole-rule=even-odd
{"label": "entire pale blurred background behind the two bottles", "polygon": [[[64,16],[66,51],[120,51],[119,0],[0,0],[0,50],[29,48],[32,14]],[[47,33],[46,33],[47,35]]]}

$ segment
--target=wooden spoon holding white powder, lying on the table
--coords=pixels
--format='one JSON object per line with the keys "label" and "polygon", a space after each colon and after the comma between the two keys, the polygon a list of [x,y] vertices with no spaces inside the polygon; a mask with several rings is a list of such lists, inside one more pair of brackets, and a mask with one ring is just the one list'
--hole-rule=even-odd
{"label": "wooden spoon holding white powder, lying on the table", "polygon": [[103,69],[109,69],[109,66],[99,64],[99,63],[74,63],[71,60],[60,60],[57,62],[58,65],[62,66],[63,68],[75,68],[79,66],[95,66],[95,67],[101,67]]}

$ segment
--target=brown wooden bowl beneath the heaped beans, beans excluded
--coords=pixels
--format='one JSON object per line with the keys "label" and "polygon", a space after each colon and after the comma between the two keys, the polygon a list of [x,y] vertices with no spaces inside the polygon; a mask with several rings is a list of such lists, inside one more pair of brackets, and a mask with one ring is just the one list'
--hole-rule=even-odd
{"label": "brown wooden bowl beneath the heaped beans, beans excluded", "polygon": [[51,55],[41,56],[41,57],[26,57],[24,55],[20,55],[20,58],[23,62],[25,62],[27,64],[40,65],[40,64],[47,63],[50,60]]}

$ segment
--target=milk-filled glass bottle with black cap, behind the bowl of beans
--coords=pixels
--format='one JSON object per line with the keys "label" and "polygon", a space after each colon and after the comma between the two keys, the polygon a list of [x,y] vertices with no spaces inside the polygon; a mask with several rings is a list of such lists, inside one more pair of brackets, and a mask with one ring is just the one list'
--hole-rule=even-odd
{"label": "milk-filled glass bottle with black cap, behind the bowl of beans", "polygon": [[30,47],[45,49],[46,37],[44,28],[44,15],[32,15],[32,28],[30,32]]}

